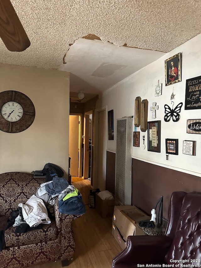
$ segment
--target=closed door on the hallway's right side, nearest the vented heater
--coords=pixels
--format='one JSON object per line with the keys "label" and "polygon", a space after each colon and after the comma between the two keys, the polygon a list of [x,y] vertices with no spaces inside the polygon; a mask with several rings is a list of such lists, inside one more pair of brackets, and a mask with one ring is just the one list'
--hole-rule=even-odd
{"label": "closed door on the hallway's right side, nearest the vented heater", "polygon": [[99,112],[98,126],[98,188],[106,190],[106,110]]}

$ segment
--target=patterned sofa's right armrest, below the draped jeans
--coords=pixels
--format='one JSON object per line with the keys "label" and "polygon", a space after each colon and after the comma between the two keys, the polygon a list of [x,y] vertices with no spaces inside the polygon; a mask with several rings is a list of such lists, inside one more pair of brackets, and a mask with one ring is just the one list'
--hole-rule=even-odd
{"label": "patterned sofa's right armrest, below the draped jeans", "polygon": [[59,212],[58,199],[54,203],[54,214],[57,226],[58,237],[61,245],[61,260],[70,260],[75,251],[75,241],[73,235],[73,220],[82,215],[62,214]]}

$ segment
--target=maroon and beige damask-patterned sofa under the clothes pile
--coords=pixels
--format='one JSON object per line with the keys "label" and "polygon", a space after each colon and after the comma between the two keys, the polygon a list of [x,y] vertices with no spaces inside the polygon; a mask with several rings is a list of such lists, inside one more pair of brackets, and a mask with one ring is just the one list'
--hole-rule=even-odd
{"label": "maroon and beige damask-patterned sofa under the clothes pile", "polygon": [[[7,172],[0,174],[0,230],[7,225],[10,212],[25,203],[45,178],[33,178],[33,174]],[[54,204],[55,220],[42,229],[28,233],[15,233],[13,226],[5,230],[5,246],[0,252],[1,268],[21,268],[62,260],[63,265],[73,258],[75,241],[73,220],[81,215],[61,214],[58,199]]]}

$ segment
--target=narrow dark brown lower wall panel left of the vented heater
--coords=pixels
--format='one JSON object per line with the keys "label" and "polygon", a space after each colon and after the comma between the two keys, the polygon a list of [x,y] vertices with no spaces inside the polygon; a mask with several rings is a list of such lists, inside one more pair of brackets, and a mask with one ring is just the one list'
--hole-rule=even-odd
{"label": "narrow dark brown lower wall panel left of the vented heater", "polygon": [[116,153],[106,151],[106,190],[115,192],[115,163]]}

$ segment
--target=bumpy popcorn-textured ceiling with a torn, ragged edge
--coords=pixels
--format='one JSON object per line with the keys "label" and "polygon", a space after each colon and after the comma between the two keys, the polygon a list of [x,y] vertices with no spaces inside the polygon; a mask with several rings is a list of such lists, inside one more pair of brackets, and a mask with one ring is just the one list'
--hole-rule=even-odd
{"label": "bumpy popcorn-textured ceiling with a torn, ragged edge", "polygon": [[58,69],[69,44],[88,34],[116,46],[168,52],[201,32],[200,0],[11,2],[31,45],[24,52],[10,52],[0,39],[1,63]]}

